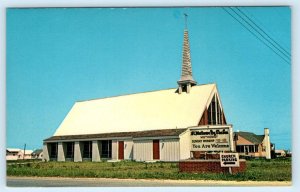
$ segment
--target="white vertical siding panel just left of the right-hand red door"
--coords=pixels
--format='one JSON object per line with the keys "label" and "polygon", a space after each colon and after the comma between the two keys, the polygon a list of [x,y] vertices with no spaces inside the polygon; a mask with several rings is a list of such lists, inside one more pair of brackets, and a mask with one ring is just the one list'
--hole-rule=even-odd
{"label": "white vertical siding panel just left of the right-hand red door", "polygon": [[136,161],[152,161],[153,141],[152,140],[134,141],[133,159]]}

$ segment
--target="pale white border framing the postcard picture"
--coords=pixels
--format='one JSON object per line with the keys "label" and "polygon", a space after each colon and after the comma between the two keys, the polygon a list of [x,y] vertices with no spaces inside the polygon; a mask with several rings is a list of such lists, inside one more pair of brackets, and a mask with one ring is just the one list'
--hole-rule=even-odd
{"label": "pale white border framing the postcard picture", "polygon": [[[5,95],[6,95],[6,46],[5,46],[5,31],[6,31],[6,16],[5,9],[9,7],[174,7],[174,6],[291,6],[292,8],[292,152],[293,152],[293,186],[292,187],[201,187],[205,191],[299,191],[300,183],[300,162],[299,160],[299,139],[300,135],[300,113],[299,113],[299,98],[300,98],[300,62],[299,62],[299,18],[300,18],[300,3],[292,0],[2,0],[0,1],[0,191],[54,191],[58,188],[8,188],[6,187],[6,132],[5,132]],[[296,54],[298,53],[298,54]],[[59,188],[63,191],[153,191],[153,188]],[[155,188],[157,191],[181,191],[186,190],[183,187],[176,188]],[[189,191],[198,191],[196,187],[188,188]]]}

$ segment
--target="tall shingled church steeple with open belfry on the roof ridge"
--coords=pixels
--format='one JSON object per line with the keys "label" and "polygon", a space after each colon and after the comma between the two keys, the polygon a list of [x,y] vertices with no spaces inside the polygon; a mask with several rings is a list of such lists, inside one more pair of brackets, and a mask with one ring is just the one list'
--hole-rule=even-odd
{"label": "tall shingled church steeple with open belfry on the roof ridge", "polygon": [[191,63],[191,52],[190,52],[190,44],[189,44],[189,33],[187,29],[187,14],[185,16],[185,29],[183,36],[183,50],[182,50],[182,71],[181,78],[178,83],[178,93],[182,92],[189,93],[191,87],[196,85],[197,82],[193,79],[192,75],[192,63]]}

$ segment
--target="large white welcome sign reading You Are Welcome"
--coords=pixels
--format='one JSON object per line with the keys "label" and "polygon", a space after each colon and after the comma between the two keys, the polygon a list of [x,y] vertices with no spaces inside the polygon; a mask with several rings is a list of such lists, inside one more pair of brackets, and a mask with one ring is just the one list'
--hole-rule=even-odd
{"label": "large white welcome sign reading You Are Welcome", "polygon": [[199,128],[191,130],[191,151],[230,151],[230,129]]}

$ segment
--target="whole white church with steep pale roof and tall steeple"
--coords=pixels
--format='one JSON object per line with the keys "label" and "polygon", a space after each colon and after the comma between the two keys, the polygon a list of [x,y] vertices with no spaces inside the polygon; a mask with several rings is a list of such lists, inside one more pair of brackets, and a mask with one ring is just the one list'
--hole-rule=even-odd
{"label": "whole white church with steep pale roof and tall steeple", "polygon": [[54,135],[44,140],[44,160],[191,159],[192,131],[201,128],[229,130],[227,151],[232,151],[232,125],[226,122],[217,85],[197,85],[187,27],[183,39],[177,88],[76,102]]}

